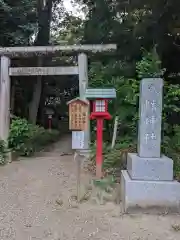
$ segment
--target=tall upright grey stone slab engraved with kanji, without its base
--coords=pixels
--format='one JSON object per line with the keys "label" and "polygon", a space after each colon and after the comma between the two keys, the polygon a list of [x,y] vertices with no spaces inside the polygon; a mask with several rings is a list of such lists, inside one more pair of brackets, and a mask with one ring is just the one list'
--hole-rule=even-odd
{"label": "tall upright grey stone slab engraved with kanji, without its base", "polygon": [[161,155],[163,80],[147,78],[141,81],[139,99],[138,155],[158,158]]}

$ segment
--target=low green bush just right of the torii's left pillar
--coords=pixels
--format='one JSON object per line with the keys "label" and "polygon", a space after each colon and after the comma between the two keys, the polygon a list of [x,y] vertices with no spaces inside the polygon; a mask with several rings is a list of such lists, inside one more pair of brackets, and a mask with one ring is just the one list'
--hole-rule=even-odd
{"label": "low green bush just right of the torii's left pillar", "polygon": [[15,118],[10,126],[9,148],[20,156],[30,156],[55,142],[58,137],[58,131],[49,131],[30,124],[26,119]]}

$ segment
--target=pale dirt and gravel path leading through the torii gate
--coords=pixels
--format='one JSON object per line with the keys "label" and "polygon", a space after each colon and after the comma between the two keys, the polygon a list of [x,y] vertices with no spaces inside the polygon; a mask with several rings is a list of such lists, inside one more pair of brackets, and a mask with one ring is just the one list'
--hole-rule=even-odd
{"label": "pale dirt and gravel path leading through the torii gate", "polygon": [[50,153],[0,168],[0,240],[180,239],[172,228],[180,216],[122,215],[120,206],[90,201],[72,207],[75,165],[60,156],[70,144],[67,137]]}

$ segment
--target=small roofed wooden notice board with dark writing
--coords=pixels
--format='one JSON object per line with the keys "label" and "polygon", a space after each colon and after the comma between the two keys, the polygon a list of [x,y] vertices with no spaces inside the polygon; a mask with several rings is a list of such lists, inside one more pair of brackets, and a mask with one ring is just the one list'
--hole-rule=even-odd
{"label": "small roofed wooden notice board with dark writing", "polygon": [[69,129],[85,131],[88,129],[89,103],[81,99],[73,99],[69,105]]}

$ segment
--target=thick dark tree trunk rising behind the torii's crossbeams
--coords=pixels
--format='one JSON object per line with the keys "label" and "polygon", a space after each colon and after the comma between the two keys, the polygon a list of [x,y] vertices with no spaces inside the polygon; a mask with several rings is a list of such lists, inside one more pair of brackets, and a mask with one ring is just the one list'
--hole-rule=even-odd
{"label": "thick dark tree trunk rising behind the torii's crossbeams", "polygon": [[[52,0],[37,0],[38,10],[38,35],[35,45],[45,46],[49,44],[50,38],[50,23],[52,13]],[[38,67],[43,66],[43,57],[38,58]],[[36,84],[34,85],[32,101],[29,105],[29,120],[36,124],[39,104],[42,92],[42,76],[37,77]]]}

